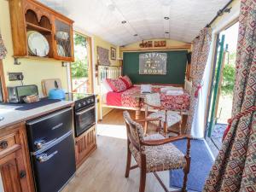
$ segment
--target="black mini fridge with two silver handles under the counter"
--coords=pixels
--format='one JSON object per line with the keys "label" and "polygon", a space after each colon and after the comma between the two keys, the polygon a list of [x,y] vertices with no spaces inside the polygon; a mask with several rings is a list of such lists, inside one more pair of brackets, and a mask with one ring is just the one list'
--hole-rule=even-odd
{"label": "black mini fridge with two silver handles under the counter", "polygon": [[75,172],[73,109],[26,123],[37,192],[60,191]]}

